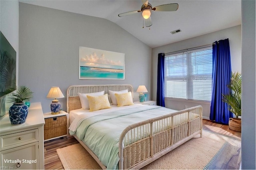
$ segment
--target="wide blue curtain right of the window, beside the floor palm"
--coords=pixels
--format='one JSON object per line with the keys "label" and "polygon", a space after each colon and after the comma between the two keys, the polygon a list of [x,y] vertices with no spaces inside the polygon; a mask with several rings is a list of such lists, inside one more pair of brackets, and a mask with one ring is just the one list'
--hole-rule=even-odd
{"label": "wide blue curtain right of the window, beside the floor palm", "polygon": [[229,40],[220,40],[212,45],[212,101],[210,120],[228,125],[233,114],[228,110],[228,104],[222,102],[222,95],[227,94],[227,85],[231,78],[231,61]]}

